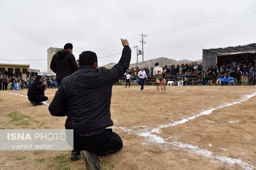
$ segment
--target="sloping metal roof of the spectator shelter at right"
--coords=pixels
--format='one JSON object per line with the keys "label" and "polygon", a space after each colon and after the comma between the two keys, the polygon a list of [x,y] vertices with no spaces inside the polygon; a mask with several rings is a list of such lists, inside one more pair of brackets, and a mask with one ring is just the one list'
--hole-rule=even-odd
{"label": "sloping metal roof of the spectator shelter at right", "polygon": [[248,45],[239,45],[236,47],[226,47],[226,48],[218,48],[218,49],[203,49],[205,51],[209,51],[211,53],[215,53],[216,55],[232,55],[238,53],[250,53],[256,52],[256,43],[248,44]]}

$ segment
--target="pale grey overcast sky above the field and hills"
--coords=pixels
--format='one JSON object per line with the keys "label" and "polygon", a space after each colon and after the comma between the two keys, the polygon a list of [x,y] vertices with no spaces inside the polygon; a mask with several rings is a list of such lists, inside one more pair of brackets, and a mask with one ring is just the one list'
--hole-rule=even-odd
{"label": "pale grey overcast sky above the field and hills", "polygon": [[194,61],[202,48],[256,43],[255,30],[256,0],[0,0],[0,63],[46,71],[47,49],[66,43],[76,59],[94,51],[99,66],[118,63],[120,38],[142,49],[142,33],[144,61]]}

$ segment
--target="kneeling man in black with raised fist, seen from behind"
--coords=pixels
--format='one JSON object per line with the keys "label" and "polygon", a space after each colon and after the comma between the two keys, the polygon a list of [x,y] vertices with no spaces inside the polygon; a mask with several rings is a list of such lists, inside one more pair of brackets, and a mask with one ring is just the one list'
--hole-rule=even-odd
{"label": "kneeling man in black with raised fist, seen from behind", "polygon": [[106,129],[113,125],[112,86],[124,75],[131,60],[128,41],[121,39],[121,42],[122,57],[111,69],[98,68],[94,52],[82,52],[78,71],[62,80],[49,106],[51,115],[67,116],[66,129],[74,129],[74,151],[70,159],[78,160],[81,154],[89,169],[100,169],[98,156],[117,152],[123,146],[119,135]]}

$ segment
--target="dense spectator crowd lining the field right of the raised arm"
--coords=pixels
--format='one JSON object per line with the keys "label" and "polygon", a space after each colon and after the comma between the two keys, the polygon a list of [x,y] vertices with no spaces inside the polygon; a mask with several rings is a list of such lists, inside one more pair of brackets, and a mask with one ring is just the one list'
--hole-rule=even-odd
{"label": "dense spectator crowd lining the field right of the raised arm", "polygon": [[[192,63],[192,64],[178,64],[178,65],[165,65],[162,66],[166,80],[174,80],[177,82],[182,80],[184,85],[209,85],[209,80],[211,80],[212,85],[226,85],[226,82],[221,82],[220,78],[234,78],[238,85],[242,85],[241,76],[247,76],[248,85],[255,85],[256,75],[255,75],[255,60],[254,61],[233,61],[230,64],[219,64],[216,63],[214,66],[210,66],[207,70],[202,70],[202,64]],[[130,75],[131,80],[136,80],[139,78],[137,75],[139,72],[137,68],[128,68],[126,70],[126,75]],[[142,70],[145,71],[148,79],[156,80],[153,75],[154,67],[144,67]],[[126,76],[125,75],[125,76]],[[127,81],[127,80],[126,80]]]}

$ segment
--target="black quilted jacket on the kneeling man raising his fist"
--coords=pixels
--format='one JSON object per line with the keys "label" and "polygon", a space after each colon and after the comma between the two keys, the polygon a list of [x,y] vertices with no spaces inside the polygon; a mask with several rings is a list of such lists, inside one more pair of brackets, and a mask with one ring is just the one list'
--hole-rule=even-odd
{"label": "black quilted jacket on the kneeling man raising his fist", "polygon": [[111,69],[80,66],[62,80],[49,106],[51,115],[67,116],[65,127],[74,129],[75,134],[112,126],[112,86],[124,75],[130,59],[130,47],[125,46],[120,61]]}

